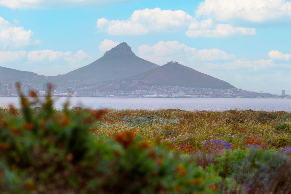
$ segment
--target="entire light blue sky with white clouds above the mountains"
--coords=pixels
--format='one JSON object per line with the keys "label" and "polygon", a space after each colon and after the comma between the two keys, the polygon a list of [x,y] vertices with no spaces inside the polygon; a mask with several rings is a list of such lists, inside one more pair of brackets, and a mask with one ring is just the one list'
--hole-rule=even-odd
{"label": "entire light blue sky with white clouds above the mountains", "polygon": [[0,0],[0,66],[58,75],[127,42],[237,88],[291,93],[288,0]]}

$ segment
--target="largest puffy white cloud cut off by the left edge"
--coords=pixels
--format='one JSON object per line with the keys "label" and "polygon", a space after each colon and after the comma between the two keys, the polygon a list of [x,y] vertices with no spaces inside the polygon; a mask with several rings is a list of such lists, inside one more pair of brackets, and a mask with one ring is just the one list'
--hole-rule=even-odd
{"label": "largest puffy white cloud cut off by the left edge", "polygon": [[15,26],[0,17],[0,49],[17,49],[31,44],[31,30]]}

